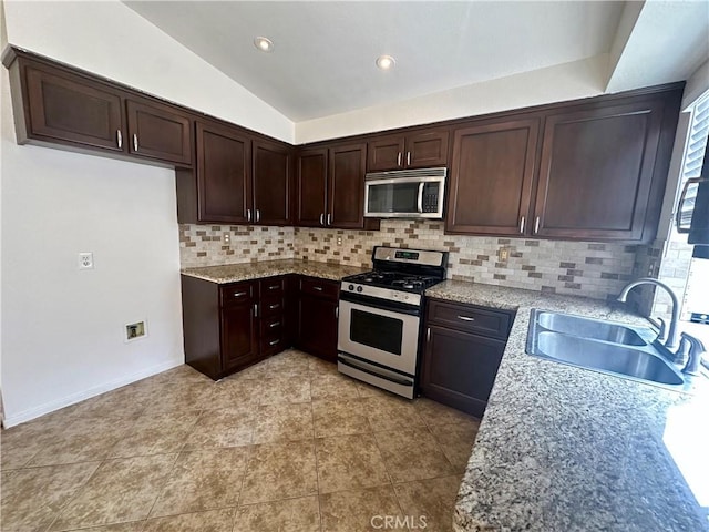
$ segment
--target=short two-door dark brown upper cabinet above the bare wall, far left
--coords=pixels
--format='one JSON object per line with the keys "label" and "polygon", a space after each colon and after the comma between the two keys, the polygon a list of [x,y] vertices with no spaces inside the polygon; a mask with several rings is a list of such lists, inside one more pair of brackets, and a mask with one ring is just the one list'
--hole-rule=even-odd
{"label": "short two-door dark brown upper cabinet above the bare wall, far left", "polygon": [[18,142],[192,165],[192,115],[22,51],[10,69]]}

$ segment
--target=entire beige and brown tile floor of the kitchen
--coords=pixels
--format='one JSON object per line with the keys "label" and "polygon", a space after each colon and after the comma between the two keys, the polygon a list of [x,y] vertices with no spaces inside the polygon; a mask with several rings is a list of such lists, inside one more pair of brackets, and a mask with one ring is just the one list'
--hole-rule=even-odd
{"label": "entire beige and brown tile floor of the kitchen", "polygon": [[476,431],[297,350],[182,366],[3,430],[1,530],[450,531]]}

